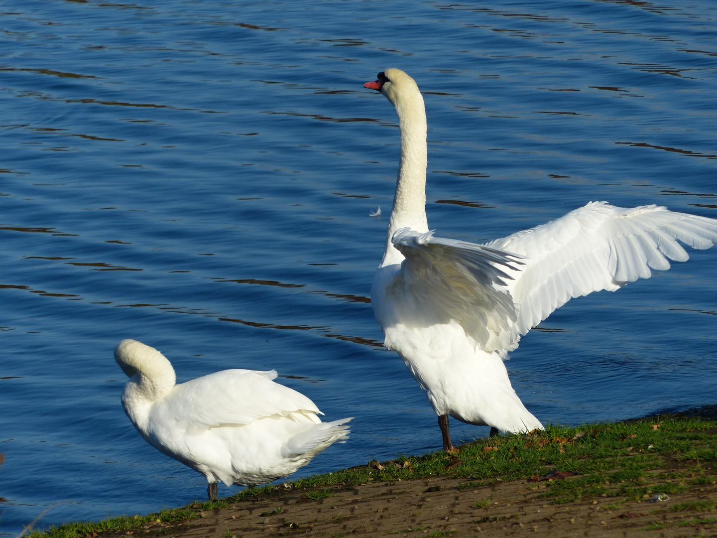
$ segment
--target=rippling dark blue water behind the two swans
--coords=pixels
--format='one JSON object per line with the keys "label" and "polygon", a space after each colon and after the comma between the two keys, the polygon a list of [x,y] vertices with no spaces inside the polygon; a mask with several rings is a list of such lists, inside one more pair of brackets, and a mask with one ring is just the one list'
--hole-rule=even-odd
{"label": "rippling dark blue water behind the two swans", "polygon": [[[717,217],[712,0],[138,1],[0,3],[2,536],[51,506],[39,527],[204,499],[125,417],[123,338],[179,381],[275,368],[355,416],[300,476],[440,448],[368,299],[399,133],[362,85],[385,67],[424,92],[440,235],[590,200]],[[716,403],[717,250],[690,255],[524,337],[507,365],[528,409]]]}

